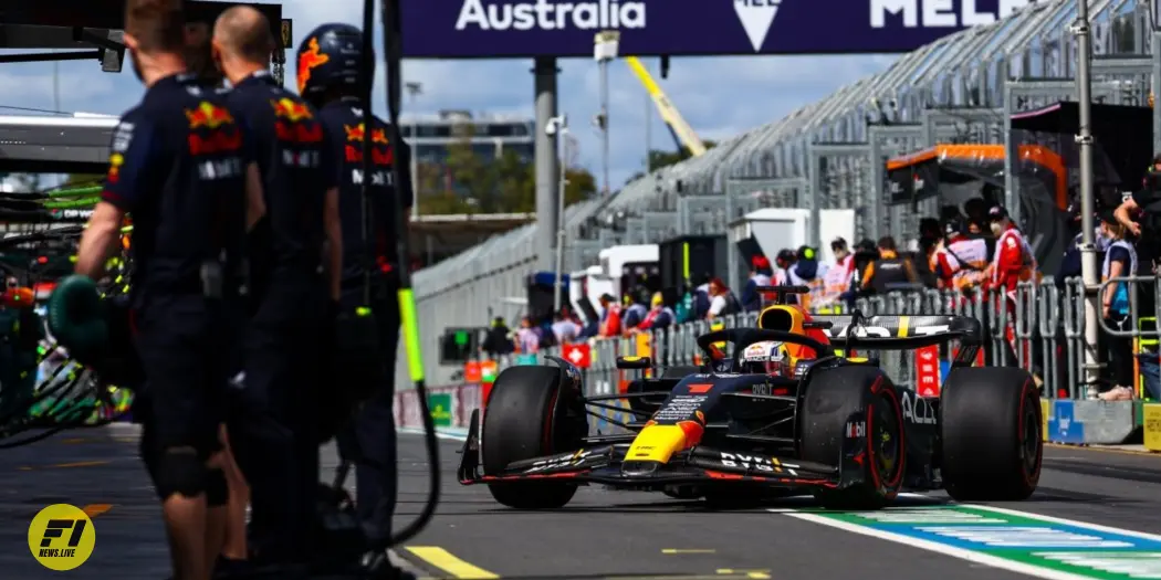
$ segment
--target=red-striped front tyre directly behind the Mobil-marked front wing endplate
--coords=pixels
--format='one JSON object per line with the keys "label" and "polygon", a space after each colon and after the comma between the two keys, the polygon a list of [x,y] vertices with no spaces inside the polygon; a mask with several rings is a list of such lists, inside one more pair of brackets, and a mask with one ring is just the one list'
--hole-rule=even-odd
{"label": "red-striped front tyre directly behind the Mobil-marked front wing endplate", "polygon": [[812,374],[802,407],[802,461],[839,465],[852,415],[865,423],[864,481],[816,488],[827,509],[880,509],[895,499],[907,467],[903,411],[894,385],[874,367],[838,367]]}

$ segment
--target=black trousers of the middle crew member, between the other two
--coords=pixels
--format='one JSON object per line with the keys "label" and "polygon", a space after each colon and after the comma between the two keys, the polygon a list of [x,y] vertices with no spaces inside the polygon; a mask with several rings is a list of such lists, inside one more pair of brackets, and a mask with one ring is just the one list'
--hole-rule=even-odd
{"label": "black trousers of the middle crew member, between the other two", "polygon": [[251,536],[260,559],[305,561],[318,486],[315,389],[323,379],[325,295],[271,296],[243,333],[244,380],[228,422],[251,487]]}

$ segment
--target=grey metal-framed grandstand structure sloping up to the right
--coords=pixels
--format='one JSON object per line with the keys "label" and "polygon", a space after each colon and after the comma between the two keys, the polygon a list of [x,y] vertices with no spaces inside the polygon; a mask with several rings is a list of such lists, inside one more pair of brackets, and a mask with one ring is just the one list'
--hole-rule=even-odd
{"label": "grey metal-framed grandstand structure sloping up to the right", "polygon": [[[1003,144],[1010,152],[1014,113],[1075,101],[1076,7],[1076,0],[1041,0],[993,24],[949,35],[705,155],[656,171],[610,198],[569,208],[565,270],[597,264],[600,249],[616,245],[721,233],[758,208],[856,209],[859,238],[914,237],[917,220],[935,208],[888,205],[885,160],[939,143]],[[1151,94],[1161,94],[1161,35],[1149,2],[1090,0],[1089,9],[1094,100],[1151,103]],[[1156,139],[1156,110],[1153,118]],[[1009,200],[1018,187],[1011,157],[1004,172]],[[533,245],[535,227],[495,237],[417,273],[431,384],[450,382],[457,370],[440,368],[433,356],[444,328],[483,325],[490,312],[503,313],[497,306],[505,298],[524,295],[538,252],[549,249]]]}

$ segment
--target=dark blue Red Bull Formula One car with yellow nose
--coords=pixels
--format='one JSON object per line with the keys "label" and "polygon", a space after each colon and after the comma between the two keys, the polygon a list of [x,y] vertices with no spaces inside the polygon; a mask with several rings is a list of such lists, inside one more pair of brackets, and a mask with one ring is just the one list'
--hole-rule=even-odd
{"label": "dark blue Red Bull Formula One car with yellow nose", "polygon": [[[1036,490],[1039,390],[1022,369],[972,367],[978,320],[812,317],[779,304],[758,326],[701,335],[706,365],[670,368],[618,394],[586,397],[580,371],[561,358],[505,369],[482,421],[473,412],[460,483],[486,484],[520,509],[563,507],[587,484],[717,502],[812,493],[828,509],[878,509],[907,490],[945,488],[961,501]],[[939,397],[900,387],[877,360],[852,356],[952,341]],[[636,420],[619,423],[623,434],[590,435],[593,408],[623,411],[614,399]]]}

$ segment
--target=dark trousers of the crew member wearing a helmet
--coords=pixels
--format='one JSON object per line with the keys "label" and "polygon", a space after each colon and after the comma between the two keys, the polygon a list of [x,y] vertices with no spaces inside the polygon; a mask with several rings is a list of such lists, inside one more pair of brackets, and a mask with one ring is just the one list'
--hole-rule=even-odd
{"label": "dark trousers of the crew member wearing a helmet", "polygon": [[[378,331],[381,368],[369,397],[353,419],[339,430],[339,455],[355,465],[355,506],[372,541],[391,534],[398,493],[398,457],[395,430],[395,363],[399,345],[399,304],[394,284],[377,289],[373,310]],[[344,306],[358,304],[358,293],[344,297]]]}

